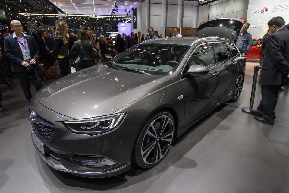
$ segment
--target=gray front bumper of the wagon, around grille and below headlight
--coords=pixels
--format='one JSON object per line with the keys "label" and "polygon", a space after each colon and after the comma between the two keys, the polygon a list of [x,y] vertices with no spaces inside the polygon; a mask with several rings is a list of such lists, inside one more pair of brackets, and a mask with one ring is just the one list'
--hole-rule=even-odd
{"label": "gray front bumper of the wagon, around grille and below headlight", "polygon": [[[36,134],[33,123],[31,127],[31,137],[36,152],[53,169],[77,176],[102,178],[121,174],[131,168],[131,154],[142,118],[127,113],[118,128],[108,133],[89,136],[71,133],[65,128],[62,121],[71,118],[53,112],[41,104],[36,107],[32,109],[37,116],[45,117],[45,120],[55,125],[55,131],[49,140],[41,138],[39,133]],[[58,119],[59,117],[61,120]],[[39,144],[43,145],[41,150]],[[83,166],[71,159],[74,156],[102,157],[107,159],[110,165]]]}

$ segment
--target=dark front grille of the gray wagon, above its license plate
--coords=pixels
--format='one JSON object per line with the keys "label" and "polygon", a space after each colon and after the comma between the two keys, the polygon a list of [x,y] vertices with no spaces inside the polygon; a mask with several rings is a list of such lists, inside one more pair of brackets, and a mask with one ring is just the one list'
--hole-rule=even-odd
{"label": "dark front grille of the gray wagon, above its license plate", "polygon": [[32,110],[30,111],[30,119],[33,131],[42,140],[50,140],[55,131],[55,126],[52,123],[37,116]]}

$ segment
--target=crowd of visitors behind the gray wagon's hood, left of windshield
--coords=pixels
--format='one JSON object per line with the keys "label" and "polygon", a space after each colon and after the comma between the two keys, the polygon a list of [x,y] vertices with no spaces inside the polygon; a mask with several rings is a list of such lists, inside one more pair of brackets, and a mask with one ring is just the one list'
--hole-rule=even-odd
{"label": "crowd of visitors behind the gray wagon's hood, left of windshield", "polygon": [[[141,32],[131,32],[130,35],[118,34],[113,43],[112,37],[93,36],[90,29],[83,25],[78,33],[69,33],[66,22],[60,21],[56,26],[56,32],[49,35],[47,31],[40,30],[29,35],[28,28],[20,21],[13,20],[10,23],[13,34],[8,29],[1,30],[0,38],[0,79],[9,89],[13,89],[12,78],[18,77],[24,96],[30,103],[30,83],[36,91],[42,88],[45,76],[39,61],[48,61],[45,69],[53,70],[55,64],[59,64],[59,77],[69,74],[69,67],[77,59],[76,71],[96,65],[96,59],[102,59],[106,55],[115,57],[126,49],[133,47],[145,40],[162,38],[162,34],[154,31],[153,27],[147,29],[145,37]],[[179,28],[175,28],[175,37],[179,35]],[[18,48],[18,49],[16,49]],[[41,64],[43,65],[43,64]],[[0,111],[2,111],[2,93],[0,90]]]}

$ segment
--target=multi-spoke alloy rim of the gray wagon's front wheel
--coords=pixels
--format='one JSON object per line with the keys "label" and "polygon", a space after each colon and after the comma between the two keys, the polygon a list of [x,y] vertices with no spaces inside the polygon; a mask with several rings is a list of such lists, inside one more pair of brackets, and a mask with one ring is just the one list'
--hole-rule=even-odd
{"label": "multi-spoke alloy rim of the gray wagon's front wheel", "polygon": [[174,124],[167,115],[157,117],[143,136],[141,157],[147,164],[159,162],[168,152],[174,137]]}

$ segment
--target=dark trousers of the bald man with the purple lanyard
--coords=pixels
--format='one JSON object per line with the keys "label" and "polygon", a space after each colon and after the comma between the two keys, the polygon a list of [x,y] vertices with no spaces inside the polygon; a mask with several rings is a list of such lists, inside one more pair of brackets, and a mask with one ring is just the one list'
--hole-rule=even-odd
{"label": "dark trousers of the bald man with the purple lanyard", "polygon": [[[38,65],[38,63],[36,63],[35,65]],[[38,73],[37,68],[36,68],[36,73]],[[22,72],[18,73],[20,84],[21,84],[22,90],[24,92],[24,96],[25,96],[26,100],[28,100],[29,103],[30,103],[30,99],[32,97],[31,92],[30,92],[29,76],[31,76],[31,78],[32,78],[32,83],[35,86],[36,91],[38,91],[42,88],[41,84],[39,83],[40,80],[38,80],[36,73],[34,70],[32,70],[29,73],[25,70],[25,68],[23,69]],[[39,79],[40,79],[40,77],[39,77]]]}

